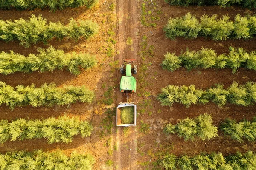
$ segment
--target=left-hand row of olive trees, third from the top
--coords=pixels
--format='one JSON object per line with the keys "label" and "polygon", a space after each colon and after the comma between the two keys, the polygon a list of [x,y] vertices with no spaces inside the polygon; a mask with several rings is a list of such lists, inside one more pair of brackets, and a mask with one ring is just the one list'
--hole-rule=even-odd
{"label": "left-hand row of olive trees, third from the top", "polygon": [[66,68],[72,74],[79,74],[79,69],[91,68],[96,64],[96,57],[90,54],[76,52],[64,53],[53,47],[38,49],[39,54],[29,54],[27,57],[14,53],[0,53],[0,73],[10,74],[15,72],[53,71]]}

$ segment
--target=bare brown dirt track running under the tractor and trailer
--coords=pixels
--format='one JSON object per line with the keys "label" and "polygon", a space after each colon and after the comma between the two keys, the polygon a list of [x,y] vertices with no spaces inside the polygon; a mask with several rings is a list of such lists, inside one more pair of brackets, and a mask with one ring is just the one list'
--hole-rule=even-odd
{"label": "bare brown dirt track running under the tractor and trailer", "polygon": [[[115,60],[122,64],[123,59],[137,59],[137,1],[119,0],[117,1],[117,55]],[[128,42],[127,42],[128,41]],[[120,82],[121,75],[116,72],[118,77],[116,83]],[[139,83],[139,82],[138,82]],[[123,94],[116,91],[116,105],[125,101]],[[131,98],[136,103],[136,95]],[[130,100],[130,101],[131,101]],[[128,128],[128,129],[125,129]],[[127,132],[124,134],[124,130]],[[136,127],[117,127],[116,131],[116,169],[118,170],[137,170],[137,131]]]}

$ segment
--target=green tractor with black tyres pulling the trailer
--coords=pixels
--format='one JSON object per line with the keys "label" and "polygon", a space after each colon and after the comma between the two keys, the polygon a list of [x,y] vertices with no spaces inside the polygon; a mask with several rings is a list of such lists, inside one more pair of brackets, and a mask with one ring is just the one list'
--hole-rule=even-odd
{"label": "green tractor with black tyres pulling the trailer", "polygon": [[124,59],[125,65],[120,66],[120,73],[125,74],[122,76],[120,82],[120,91],[127,95],[127,102],[129,102],[129,95],[136,92],[136,80],[132,76],[137,74],[137,65],[134,65],[135,59]]}

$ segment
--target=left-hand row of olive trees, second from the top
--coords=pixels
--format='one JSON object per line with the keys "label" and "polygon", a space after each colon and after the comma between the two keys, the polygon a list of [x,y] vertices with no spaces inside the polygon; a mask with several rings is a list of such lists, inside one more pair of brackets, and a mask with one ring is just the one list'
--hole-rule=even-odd
{"label": "left-hand row of olive trees, second from the top", "polygon": [[89,38],[98,32],[99,26],[90,20],[79,20],[76,22],[71,19],[65,26],[58,22],[50,22],[41,15],[36,17],[34,14],[29,20],[20,18],[19,20],[0,20],[0,40],[6,42],[18,40],[20,45],[29,47],[38,42],[47,43],[48,40],[56,37],[58,40],[64,37],[78,40],[81,37]]}

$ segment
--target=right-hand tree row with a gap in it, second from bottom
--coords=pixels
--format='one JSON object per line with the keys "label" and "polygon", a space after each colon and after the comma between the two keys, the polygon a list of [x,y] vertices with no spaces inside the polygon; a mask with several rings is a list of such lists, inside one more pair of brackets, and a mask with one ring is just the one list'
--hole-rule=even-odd
{"label": "right-hand tree row with a gap in it, second from bottom", "polygon": [[[200,140],[209,140],[218,136],[218,128],[212,125],[212,116],[208,114],[202,114],[195,119],[186,118],[180,120],[176,125],[171,123],[167,124],[163,130],[166,134],[175,134],[185,141],[194,141],[195,136]],[[230,136],[231,139],[238,142],[244,142],[243,139],[247,139],[250,142],[256,140],[256,119],[252,122],[243,121],[236,123],[236,120],[225,119],[221,123],[220,128],[225,135]]]}

